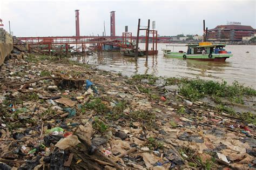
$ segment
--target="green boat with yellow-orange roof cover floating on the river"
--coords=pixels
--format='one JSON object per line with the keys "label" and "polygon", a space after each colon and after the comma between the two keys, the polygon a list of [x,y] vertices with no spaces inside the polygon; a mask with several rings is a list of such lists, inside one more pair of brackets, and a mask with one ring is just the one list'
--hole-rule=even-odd
{"label": "green boat with yellow-orange roof cover floating on the river", "polygon": [[224,49],[226,46],[225,44],[201,42],[199,44],[188,44],[186,46],[187,52],[172,52],[171,50],[163,50],[164,56],[170,58],[197,59],[217,62],[224,62],[227,58],[233,56],[231,52]]}

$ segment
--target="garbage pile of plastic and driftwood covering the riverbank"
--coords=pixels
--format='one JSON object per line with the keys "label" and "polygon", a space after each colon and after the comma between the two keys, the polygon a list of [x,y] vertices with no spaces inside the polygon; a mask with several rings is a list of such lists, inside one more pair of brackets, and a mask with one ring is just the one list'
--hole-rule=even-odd
{"label": "garbage pile of plastic and driftwood covering the riverbank", "polygon": [[0,169],[256,167],[255,124],[164,85],[33,57],[0,72]]}

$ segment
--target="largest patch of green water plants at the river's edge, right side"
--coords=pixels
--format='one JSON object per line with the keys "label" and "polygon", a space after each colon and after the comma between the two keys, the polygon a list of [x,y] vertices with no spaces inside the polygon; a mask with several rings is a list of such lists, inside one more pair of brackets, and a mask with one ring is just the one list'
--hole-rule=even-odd
{"label": "largest patch of green water plants at the river's edge, right side", "polygon": [[244,85],[234,81],[232,85],[228,85],[226,81],[221,83],[213,80],[203,79],[185,79],[185,78],[168,78],[166,79],[167,84],[179,85],[181,95],[189,100],[196,101],[200,98],[213,96],[217,103],[220,102],[220,98],[226,97],[230,101],[235,103],[244,103],[242,96],[256,96],[256,90],[251,87],[245,87]]}

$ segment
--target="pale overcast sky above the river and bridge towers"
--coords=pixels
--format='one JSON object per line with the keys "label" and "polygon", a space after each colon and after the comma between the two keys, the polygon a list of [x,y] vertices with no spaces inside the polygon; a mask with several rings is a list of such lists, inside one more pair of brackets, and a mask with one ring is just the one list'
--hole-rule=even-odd
{"label": "pale overcast sky above the river and bridge towers", "polygon": [[[125,25],[137,34],[138,18],[156,21],[161,36],[180,33],[203,34],[203,19],[208,29],[227,21],[255,26],[256,1],[10,1],[0,0],[4,29],[18,37],[74,36],[75,10],[80,11],[80,35],[110,35],[110,11],[116,11],[116,35]],[[152,26],[152,24],[150,25]],[[142,33],[142,35],[145,33]]]}

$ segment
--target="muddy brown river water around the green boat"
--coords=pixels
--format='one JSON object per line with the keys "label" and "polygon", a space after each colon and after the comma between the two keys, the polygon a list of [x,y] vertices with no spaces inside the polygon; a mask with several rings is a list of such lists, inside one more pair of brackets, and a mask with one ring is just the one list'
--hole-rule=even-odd
{"label": "muddy brown river water around the green boat", "polygon": [[[136,63],[133,57],[124,57],[119,52],[104,52],[100,59],[97,55],[87,56],[86,62],[97,65],[99,69],[120,72],[126,76],[155,74],[163,77],[199,77],[207,80],[225,80],[228,83],[237,80],[256,89],[255,45],[227,45],[226,50],[232,51],[233,57],[226,59],[226,62],[166,58],[161,51],[166,49],[166,45],[170,44],[158,44],[158,55],[149,56],[148,61],[145,57],[140,57]],[[140,49],[145,49],[145,44],[139,46]],[[150,48],[151,46],[152,44],[149,45]],[[167,49],[173,50],[173,47],[168,46]],[[186,46],[174,47],[174,51],[186,51],[186,49]],[[246,53],[247,51],[249,53]],[[77,59],[82,62],[82,58]]]}

